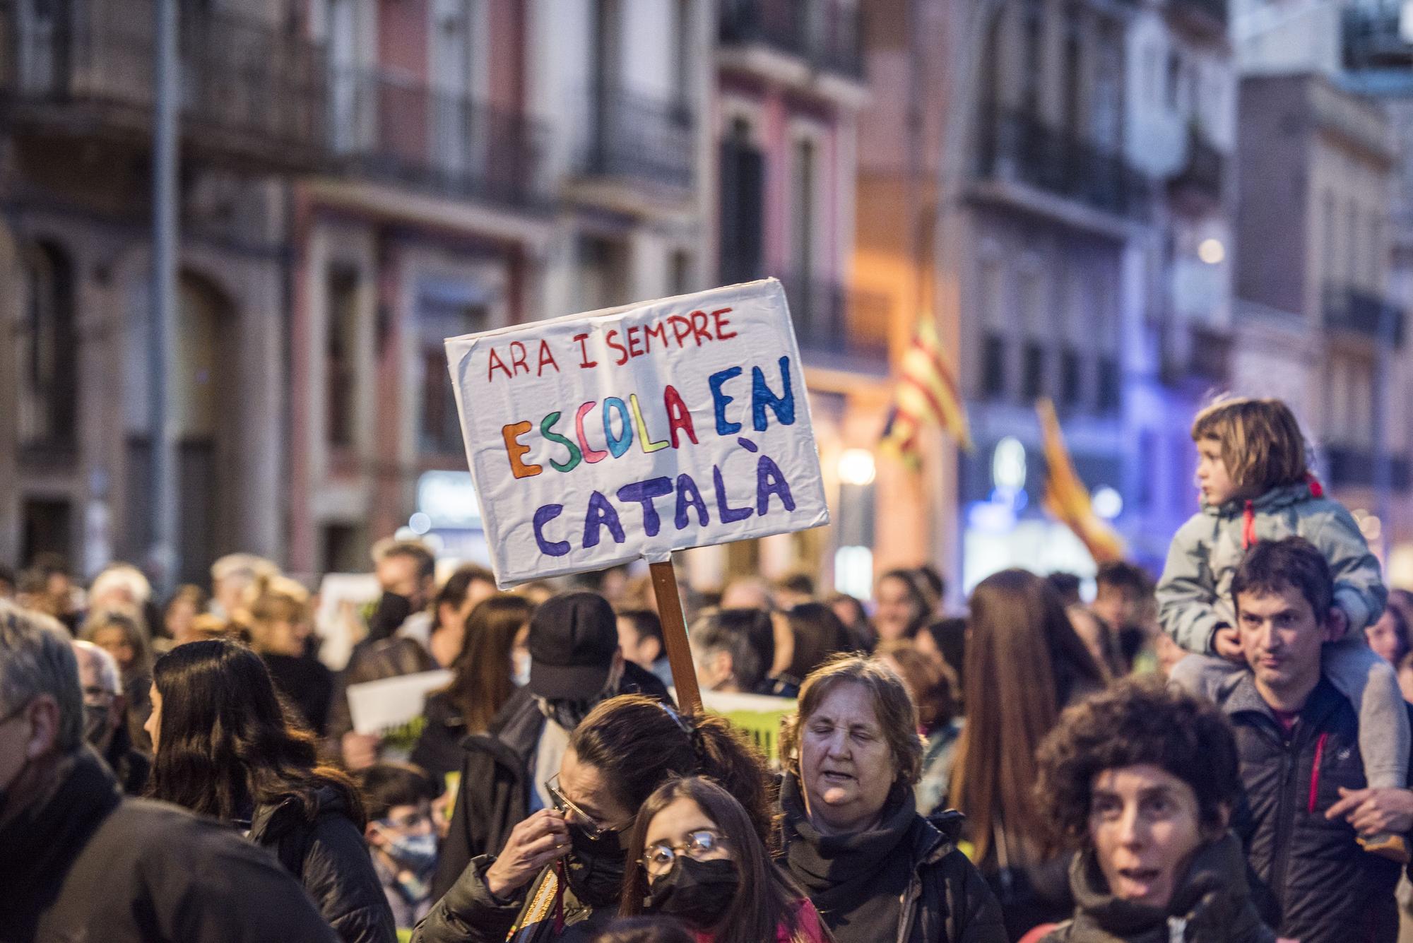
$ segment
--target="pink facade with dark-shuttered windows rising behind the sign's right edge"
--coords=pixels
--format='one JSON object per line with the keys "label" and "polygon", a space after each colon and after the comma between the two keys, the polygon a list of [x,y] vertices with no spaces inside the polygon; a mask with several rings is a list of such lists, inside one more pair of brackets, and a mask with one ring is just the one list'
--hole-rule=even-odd
{"label": "pink facade with dark-shuttered windows rising behind the sign's right edge", "polygon": [[[763,277],[784,284],[839,524],[697,551],[692,577],[704,586],[738,573],[791,570],[820,573],[829,583],[839,548],[858,546],[872,525],[872,446],[887,402],[887,319],[879,292],[852,284],[858,121],[870,102],[868,6],[719,0],[714,7],[708,271],[719,284]],[[845,463],[849,480],[841,480],[839,462],[851,449],[865,467]],[[856,552],[853,560],[855,580],[870,587],[870,565],[859,565]]]}

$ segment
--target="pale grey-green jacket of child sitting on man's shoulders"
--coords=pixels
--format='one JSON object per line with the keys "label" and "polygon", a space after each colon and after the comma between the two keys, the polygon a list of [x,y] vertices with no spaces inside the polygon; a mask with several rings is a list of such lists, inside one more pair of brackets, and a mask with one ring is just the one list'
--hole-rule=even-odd
{"label": "pale grey-green jacket of child sitting on man's shoulders", "polygon": [[1349,618],[1349,634],[1362,632],[1382,613],[1388,589],[1379,560],[1359,525],[1314,481],[1272,488],[1251,501],[1204,504],[1173,535],[1157,584],[1159,621],[1180,647],[1214,654],[1217,627],[1236,624],[1232,576],[1259,541],[1303,536],[1324,555],[1334,577],[1334,601]]}

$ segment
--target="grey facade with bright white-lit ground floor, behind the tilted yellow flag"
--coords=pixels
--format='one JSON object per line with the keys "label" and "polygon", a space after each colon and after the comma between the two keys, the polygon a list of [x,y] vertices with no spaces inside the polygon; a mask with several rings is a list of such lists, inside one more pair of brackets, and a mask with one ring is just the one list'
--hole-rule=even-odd
{"label": "grey facade with bright white-lit ground floor, behind the tilted yellow flag", "polygon": [[1075,467],[1115,511],[1125,483],[1126,329],[1140,316],[1130,244],[1149,182],[1125,150],[1133,4],[1009,0],[976,24],[961,385],[976,449],[959,463],[961,576],[1005,566],[1085,573],[1040,510],[1034,401],[1058,409]]}

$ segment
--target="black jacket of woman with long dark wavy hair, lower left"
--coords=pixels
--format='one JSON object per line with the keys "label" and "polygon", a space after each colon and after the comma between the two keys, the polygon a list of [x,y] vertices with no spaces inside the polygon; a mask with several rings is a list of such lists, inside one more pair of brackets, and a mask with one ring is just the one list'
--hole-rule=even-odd
{"label": "black jacket of woman with long dark wavy hair, lower left", "polygon": [[308,816],[298,796],[257,806],[250,840],[276,853],[346,943],[391,943],[397,937],[363,833],[336,789],[315,792]]}

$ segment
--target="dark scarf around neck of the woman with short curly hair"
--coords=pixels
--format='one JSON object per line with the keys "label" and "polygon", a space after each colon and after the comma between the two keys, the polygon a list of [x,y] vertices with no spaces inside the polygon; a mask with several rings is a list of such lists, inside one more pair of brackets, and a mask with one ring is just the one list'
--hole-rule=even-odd
{"label": "dark scarf around neck of the woman with short curly hair", "polygon": [[1166,909],[1109,894],[1094,851],[1074,858],[1070,888],[1077,902],[1068,927],[1072,943],[1169,943],[1169,918],[1187,922],[1190,943],[1270,943],[1246,887],[1246,858],[1232,833],[1197,851]]}

